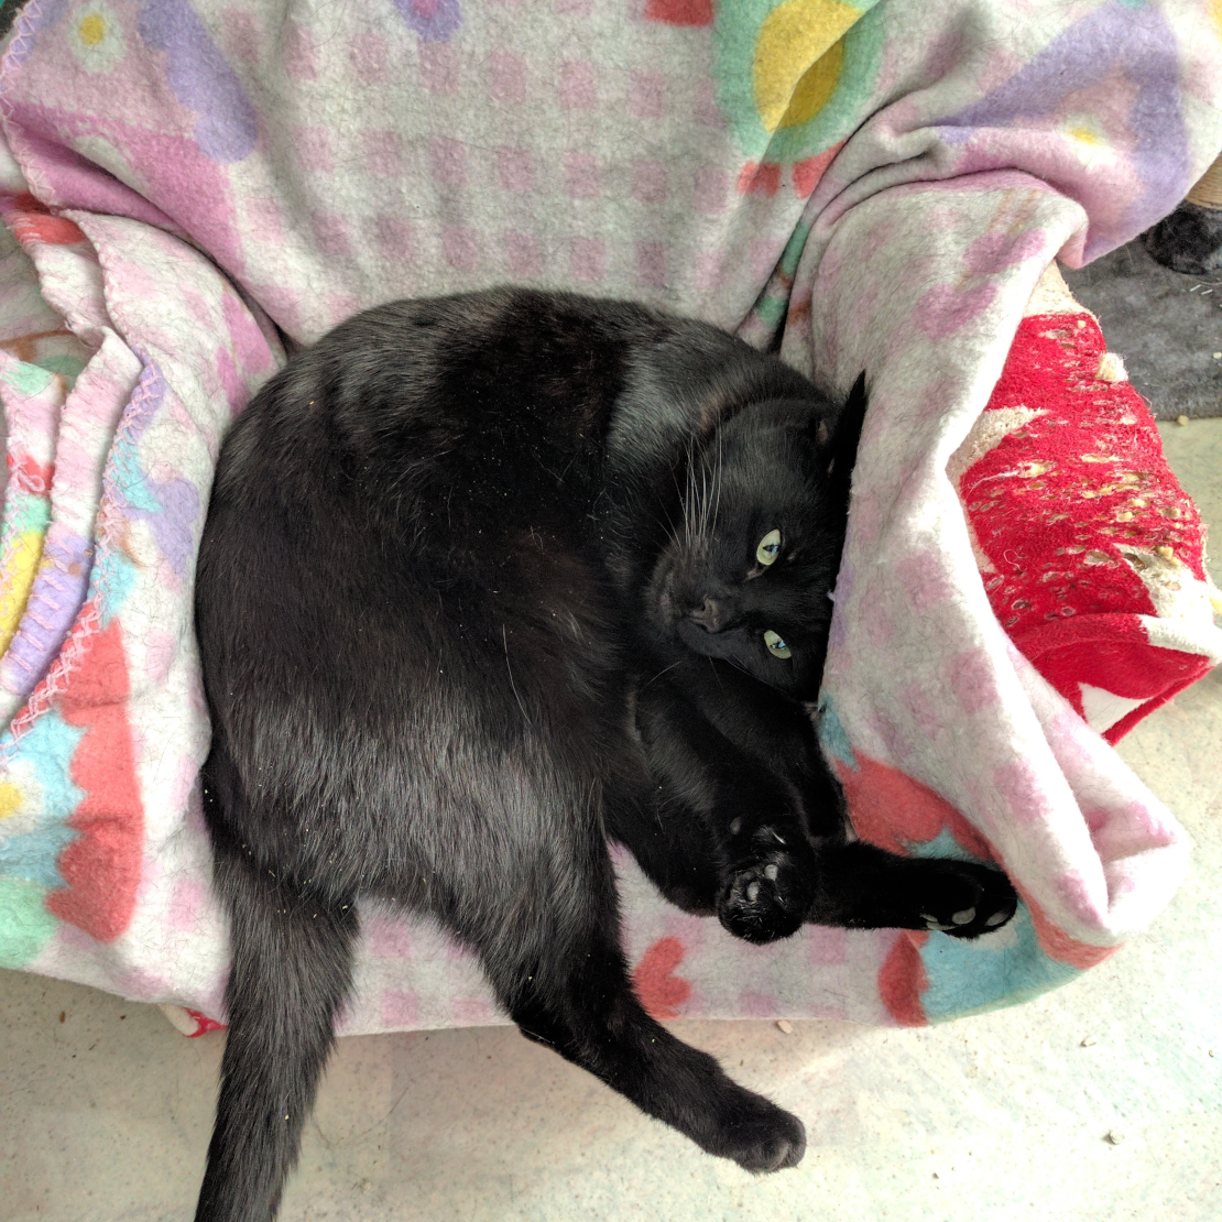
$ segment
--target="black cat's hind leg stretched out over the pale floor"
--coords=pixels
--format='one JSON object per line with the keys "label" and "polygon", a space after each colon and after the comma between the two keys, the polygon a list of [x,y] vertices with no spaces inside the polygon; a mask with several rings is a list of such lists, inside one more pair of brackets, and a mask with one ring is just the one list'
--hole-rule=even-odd
{"label": "black cat's hind leg stretched out over the pale floor", "polygon": [[[595,728],[579,741],[598,742]],[[528,1037],[710,1154],[749,1171],[794,1166],[805,1149],[802,1122],[676,1039],[633,992],[604,811],[638,796],[616,792],[612,766],[587,760],[588,769],[572,767],[543,745],[536,739],[513,748],[495,770],[478,770],[478,789],[451,789],[442,799],[455,804],[447,825],[463,821],[467,810],[473,835],[452,838],[428,862],[435,915],[480,957]],[[623,782],[629,791],[637,783]],[[478,826],[495,832],[477,835]],[[411,882],[402,877],[398,895]]]}

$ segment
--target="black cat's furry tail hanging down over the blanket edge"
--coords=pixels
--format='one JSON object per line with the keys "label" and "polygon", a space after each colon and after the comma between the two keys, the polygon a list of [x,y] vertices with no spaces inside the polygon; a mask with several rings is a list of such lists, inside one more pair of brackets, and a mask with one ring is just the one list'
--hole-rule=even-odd
{"label": "black cat's furry tail hanging down over the blanket edge", "polygon": [[351,899],[276,879],[213,821],[215,884],[233,963],[216,1127],[196,1222],[268,1222],[297,1162],[302,1124],[352,981]]}

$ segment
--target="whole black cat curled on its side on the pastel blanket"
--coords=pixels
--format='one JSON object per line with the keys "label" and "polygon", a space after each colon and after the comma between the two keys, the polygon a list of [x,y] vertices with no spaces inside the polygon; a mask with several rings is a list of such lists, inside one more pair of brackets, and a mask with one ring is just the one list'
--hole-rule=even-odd
{"label": "whole black cat curled on its side on the pastel blanket", "polygon": [[996,871],[847,841],[800,703],[863,411],[821,446],[827,401],[717,329],[510,290],[358,315],[255,396],[196,596],[233,959],[197,1220],[275,1212],[362,896],[433,914],[523,1034],[753,1171],[802,1123],[640,1007],[607,833],[755,940],[1008,919]]}

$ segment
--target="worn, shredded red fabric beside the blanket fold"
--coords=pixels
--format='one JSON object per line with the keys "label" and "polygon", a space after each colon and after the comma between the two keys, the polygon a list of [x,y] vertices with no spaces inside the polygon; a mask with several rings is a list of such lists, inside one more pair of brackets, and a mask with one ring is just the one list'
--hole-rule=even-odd
{"label": "worn, shredded red fabric beside the blanket fold", "polygon": [[991,571],[985,589],[1014,644],[1083,712],[1081,684],[1143,701],[1116,742],[1200,678],[1210,660],[1152,645],[1141,571],[1179,561],[1205,579],[1204,532],[1127,381],[1100,376],[1095,320],[1023,320],[986,411],[1039,412],[963,474],[959,495]]}

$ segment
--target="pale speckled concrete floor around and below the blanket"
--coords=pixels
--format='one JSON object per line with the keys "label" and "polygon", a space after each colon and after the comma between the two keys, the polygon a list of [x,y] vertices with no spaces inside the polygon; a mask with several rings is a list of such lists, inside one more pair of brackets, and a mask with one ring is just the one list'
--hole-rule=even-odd
{"label": "pale speckled concrete floor around and below the blanket", "polygon": [[[1222,419],[1163,435],[1222,523]],[[1155,929],[1081,980],[920,1031],[675,1024],[804,1118],[796,1171],[753,1179],[709,1158],[512,1029],[363,1036],[340,1044],[281,1217],[1213,1222],[1220,742],[1216,672],[1122,744],[1187,825],[1194,864]],[[0,1220],[191,1217],[221,1036],[186,1040],[150,1007],[13,973],[0,1031]]]}

